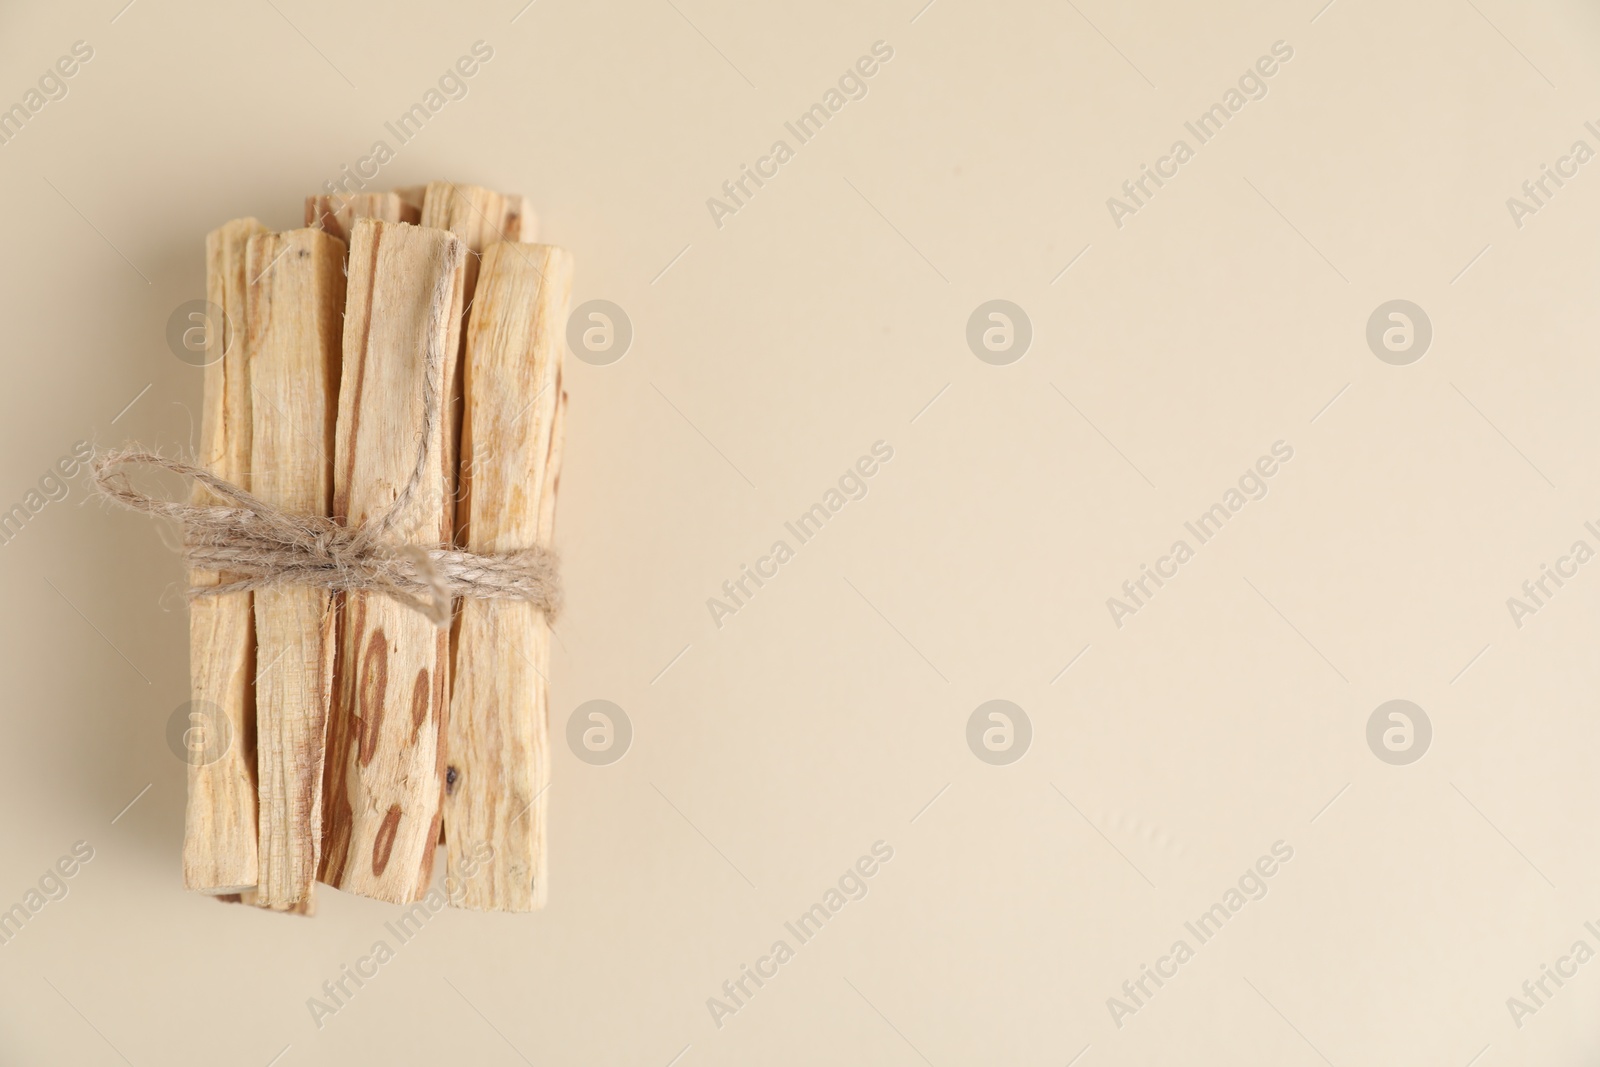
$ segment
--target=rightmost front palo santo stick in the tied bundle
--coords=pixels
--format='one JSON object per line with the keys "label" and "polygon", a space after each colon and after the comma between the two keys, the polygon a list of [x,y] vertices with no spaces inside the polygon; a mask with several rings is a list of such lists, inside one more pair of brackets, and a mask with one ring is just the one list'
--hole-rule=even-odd
{"label": "rightmost front palo santo stick in the tied bundle", "polygon": [[[541,542],[554,523],[552,429],[573,259],[549,245],[483,253],[467,325],[464,496],[458,525],[474,552]],[[546,902],[550,630],[520,600],[461,605],[445,771],[451,899],[475,910]]]}

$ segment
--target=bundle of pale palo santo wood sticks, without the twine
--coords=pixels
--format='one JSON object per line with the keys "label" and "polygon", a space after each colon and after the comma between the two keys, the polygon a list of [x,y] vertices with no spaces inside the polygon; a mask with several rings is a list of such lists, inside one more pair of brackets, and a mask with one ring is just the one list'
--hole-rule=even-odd
{"label": "bundle of pale palo santo wood sticks, without the twine", "polygon": [[[208,338],[200,466],[296,515],[386,515],[395,544],[547,545],[573,261],[534,227],[522,197],[434,182],[211,232],[232,331]],[[192,705],[230,742],[189,763],[187,888],[298,913],[317,881],[435,899],[443,841],[451,905],[544,904],[547,609],[445,605],[293,581],[190,601]]]}

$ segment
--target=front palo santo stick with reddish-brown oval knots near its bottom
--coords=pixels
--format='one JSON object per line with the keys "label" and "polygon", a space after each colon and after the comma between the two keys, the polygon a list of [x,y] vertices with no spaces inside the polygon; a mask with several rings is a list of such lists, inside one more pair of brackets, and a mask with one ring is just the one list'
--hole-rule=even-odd
{"label": "front palo santo stick with reddish-brown oval knots near its bottom", "polygon": [[[450,539],[445,395],[461,320],[466,246],[453,235],[376,219],[352,230],[344,371],[334,429],[333,514],[357,525],[390,514],[426,445],[424,477],[387,536]],[[381,593],[346,593],[328,729],[322,880],[406,902],[426,891],[438,841],[448,635]],[[421,889],[419,889],[421,886]]]}

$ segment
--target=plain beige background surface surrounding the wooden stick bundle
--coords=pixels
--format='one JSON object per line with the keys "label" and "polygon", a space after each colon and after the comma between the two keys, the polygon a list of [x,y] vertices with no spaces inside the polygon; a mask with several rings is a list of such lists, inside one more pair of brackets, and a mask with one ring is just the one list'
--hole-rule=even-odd
{"label": "plain beige background surface surrounding the wooden stick bundle", "polygon": [[[0,147],[0,507],[77,440],[190,443],[200,373],[165,323],[203,234],[298,226],[477,40],[493,61],[379,184],[530,194],[576,299],[635,330],[568,365],[550,905],[440,913],[322,1029],[307,998],[394,909],[182,893],[171,536],[78,477],[0,547],[0,907],[94,848],[0,947],[0,1062],[1600,1054],[1600,963],[1522,1027],[1506,1005],[1600,949],[1600,563],[1520,629],[1506,606],[1600,547],[1600,163],[1520,229],[1506,206],[1600,149],[1600,14],[920,3],[0,11],[0,106],[94,50]],[[714,226],[706,198],[877,40],[867,98]],[[1107,197],[1278,40],[1269,94],[1114,226]],[[995,298],[1034,328],[1008,366],[965,341]],[[1365,341],[1390,299],[1434,326],[1410,366]],[[877,440],[869,496],[717,629],[706,600]],[[1106,598],[1277,440],[1269,496],[1114,625]],[[1365,736],[1397,697],[1434,726],[1408,766]],[[590,699],[634,726],[610,766],[565,744]],[[990,699],[1032,721],[1008,766],[966,744]],[[717,1027],[706,1000],[877,840],[866,899]],[[1107,998],[1280,840],[1270,893],[1118,1027]]]}

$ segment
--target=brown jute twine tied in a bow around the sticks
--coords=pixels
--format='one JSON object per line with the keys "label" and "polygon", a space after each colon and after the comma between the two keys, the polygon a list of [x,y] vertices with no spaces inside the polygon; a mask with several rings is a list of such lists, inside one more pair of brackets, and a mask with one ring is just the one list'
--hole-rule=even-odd
{"label": "brown jute twine tied in a bow around the sticks", "polygon": [[[434,307],[440,307],[434,301]],[[448,301],[443,302],[448,307]],[[442,330],[429,330],[438,338]],[[514,552],[466,552],[445,545],[400,544],[389,531],[416,496],[427,472],[429,442],[438,432],[440,403],[435,379],[442,354],[429,346],[422,387],[422,432],[416,466],[394,504],[355,526],[323,515],[296,515],[267,504],[246,490],[192,464],[138,448],[94,456],[94,485],[125,507],[176,520],[182,528],[182,558],[190,571],[221,571],[227,581],[192,585],[189,597],[219,597],[246,589],[314,585],[390,597],[445,627],[454,597],[526,600],[552,622],[562,606],[555,553],[542,545]],[[123,467],[160,467],[194,478],[222,504],[163,501],[128,482]]]}

